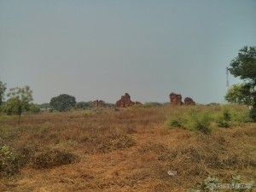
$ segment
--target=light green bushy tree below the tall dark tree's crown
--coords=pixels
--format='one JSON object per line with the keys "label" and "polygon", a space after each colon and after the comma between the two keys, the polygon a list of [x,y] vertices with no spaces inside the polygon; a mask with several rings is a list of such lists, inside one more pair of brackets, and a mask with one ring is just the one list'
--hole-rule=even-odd
{"label": "light green bushy tree below the tall dark tree's crown", "polygon": [[245,84],[233,84],[224,96],[227,102],[245,104],[251,106],[253,97],[251,93],[247,93],[248,89]]}

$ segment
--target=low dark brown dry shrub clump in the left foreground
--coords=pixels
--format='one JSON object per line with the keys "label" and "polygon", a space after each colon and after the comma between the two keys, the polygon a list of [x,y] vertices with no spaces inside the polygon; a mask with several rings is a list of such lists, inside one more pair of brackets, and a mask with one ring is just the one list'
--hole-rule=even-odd
{"label": "low dark brown dry shrub clump in the left foreground", "polygon": [[35,154],[32,158],[32,167],[37,169],[67,165],[77,162],[79,157],[67,151],[49,149]]}

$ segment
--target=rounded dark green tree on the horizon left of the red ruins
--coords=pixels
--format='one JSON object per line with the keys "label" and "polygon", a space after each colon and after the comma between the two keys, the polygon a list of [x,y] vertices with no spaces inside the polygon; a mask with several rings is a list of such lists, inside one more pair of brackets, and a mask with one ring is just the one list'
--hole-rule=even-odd
{"label": "rounded dark green tree on the horizon left of the red ruins", "polygon": [[51,98],[49,104],[57,111],[67,111],[75,107],[76,98],[67,94],[61,94]]}

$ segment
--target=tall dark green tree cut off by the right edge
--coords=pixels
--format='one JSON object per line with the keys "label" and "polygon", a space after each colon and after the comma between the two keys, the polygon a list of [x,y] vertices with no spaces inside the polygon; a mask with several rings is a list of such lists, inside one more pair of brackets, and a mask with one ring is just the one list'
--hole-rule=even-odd
{"label": "tall dark green tree cut off by the right edge", "polygon": [[252,98],[251,117],[256,121],[256,46],[243,47],[238,55],[230,62],[229,71],[235,77],[243,80],[243,91]]}

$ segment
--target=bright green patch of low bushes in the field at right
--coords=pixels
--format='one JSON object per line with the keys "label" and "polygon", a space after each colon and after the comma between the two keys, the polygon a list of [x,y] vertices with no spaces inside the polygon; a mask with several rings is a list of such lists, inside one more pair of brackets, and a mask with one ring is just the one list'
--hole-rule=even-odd
{"label": "bright green patch of low bushes in the field at right", "polygon": [[[184,111],[187,109],[188,111]],[[228,128],[233,125],[252,122],[249,109],[241,106],[224,105],[220,108],[175,108],[167,118],[167,127],[178,127],[191,131],[211,133],[213,127]]]}

